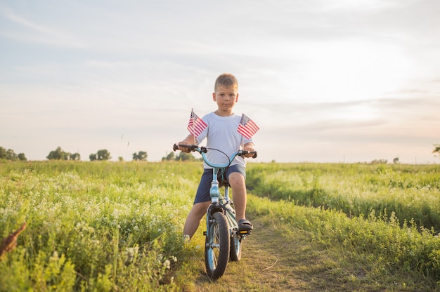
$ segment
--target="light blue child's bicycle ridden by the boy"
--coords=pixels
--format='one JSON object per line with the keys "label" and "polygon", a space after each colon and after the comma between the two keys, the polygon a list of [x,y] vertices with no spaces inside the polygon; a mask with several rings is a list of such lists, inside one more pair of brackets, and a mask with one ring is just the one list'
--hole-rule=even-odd
{"label": "light blue child's bicycle ridden by the boy", "polygon": [[[206,152],[216,150],[214,148],[199,147],[198,145],[188,145],[190,152],[199,152],[203,161],[213,168],[212,183],[209,194],[211,195],[211,204],[207,208],[206,227],[203,232],[205,235],[205,267],[210,279],[216,280],[223,276],[228,265],[228,261],[241,260],[241,242],[251,234],[251,230],[239,230],[238,223],[235,220],[235,210],[233,201],[229,198],[229,183],[224,177],[226,168],[228,168],[235,157],[245,157],[247,154],[253,154],[252,158],[257,157],[257,152],[247,152],[239,150],[228,157],[226,164],[213,164],[208,161]],[[179,150],[179,146],[174,144],[173,150]],[[216,150],[220,151],[220,150]],[[221,178],[219,182],[218,178]],[[221,194],[219,187],[224,187],[224,194]]]}

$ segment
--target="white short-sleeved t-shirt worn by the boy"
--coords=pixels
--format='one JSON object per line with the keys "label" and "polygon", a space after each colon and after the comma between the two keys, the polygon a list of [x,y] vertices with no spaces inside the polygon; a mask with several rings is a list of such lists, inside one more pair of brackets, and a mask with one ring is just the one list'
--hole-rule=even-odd
{"label": "white short-sleeved t-shirt worn by the boy", "polygon": [[[233,114],[229,117],[220,117],[214,112],[206,114],[202,120],[208,125],[197,138],[200,144],[207,138],[207,147],[221,150],[231,157],[233,152],[242,149],[247,142],[252,142],[252,139],[247,139],[238,133],[238,124],[240,124],[241,116]],[[225,154],[216,151],[208,150],[207,159],[214,164],[227,164],[228,157]],[[239,164],[246,167],[246,161],[242,157],[235,157],[231,165]],[[204,163],[205,168],[212,168]]]}

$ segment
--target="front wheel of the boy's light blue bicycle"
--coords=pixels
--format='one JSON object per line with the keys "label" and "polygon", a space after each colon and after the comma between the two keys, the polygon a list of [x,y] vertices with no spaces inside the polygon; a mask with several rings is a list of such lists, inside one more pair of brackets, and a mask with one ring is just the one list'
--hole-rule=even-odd
{"label": "front wheel of the boy's light blue bicycle", "polygon": [[205,244],[205,266],[210,279],[219,279],[226,271],[231,238],[229,225],[223,213],[212,214]]}

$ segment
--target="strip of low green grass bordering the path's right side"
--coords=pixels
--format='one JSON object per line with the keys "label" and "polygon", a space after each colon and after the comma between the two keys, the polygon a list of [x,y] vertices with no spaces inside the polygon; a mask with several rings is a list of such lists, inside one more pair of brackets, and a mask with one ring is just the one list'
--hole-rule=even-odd
{"label": "strip of low green grass bordering the path's right side", "polygon": [[421,282],[426,291],[440,281],[439,237],[413,221],[399,223],[394,213],[373,211],[367,218],[349,218],[340,211],[261,197],[252,197],[248,210],[271,218],[276,227],[287,230],[287,240],[295,240],[288,230],[307,232],[311,241],[335,250],[340,260],[357,266],[354,274],[365,274],[365,281],[392,280],[388,286],[396,281],[406,283],[408,288]]}

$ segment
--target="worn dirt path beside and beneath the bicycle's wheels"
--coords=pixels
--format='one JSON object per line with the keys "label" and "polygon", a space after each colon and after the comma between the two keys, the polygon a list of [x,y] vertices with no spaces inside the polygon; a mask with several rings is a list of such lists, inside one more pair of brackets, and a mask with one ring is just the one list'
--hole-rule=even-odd
{"label": "worn dirt path beside and beneath the bicycle's wheels", "polygon": [[[226,273],[216,282],[207,279],[201,270],[195,291],[325,291],[332,290],[317,279],[325,273],[304,235],[287,242],[280,230],[261,218],[250,218],[254,232],[243,241],[242,260],[229,263]],[[287,232],[287,231],[284,231]],[[290,234],[291,235],[291,234]],[[203,259],[201,259],[201,266]]]}

